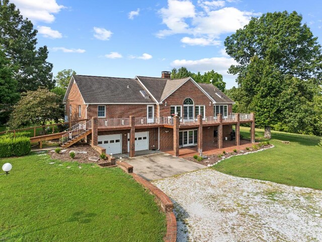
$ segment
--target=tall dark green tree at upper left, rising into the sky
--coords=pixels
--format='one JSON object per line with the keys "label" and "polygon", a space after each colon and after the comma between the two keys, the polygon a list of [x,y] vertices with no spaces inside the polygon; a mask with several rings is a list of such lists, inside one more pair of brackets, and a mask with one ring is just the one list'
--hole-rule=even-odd
{"label": "tall dark green tree at upper left, rising into the sky", "polygon": [[0,0],[0,46],[13,65],[18,91],[53,88],[47,46],[36,48],[37,30],[9,0]]}

